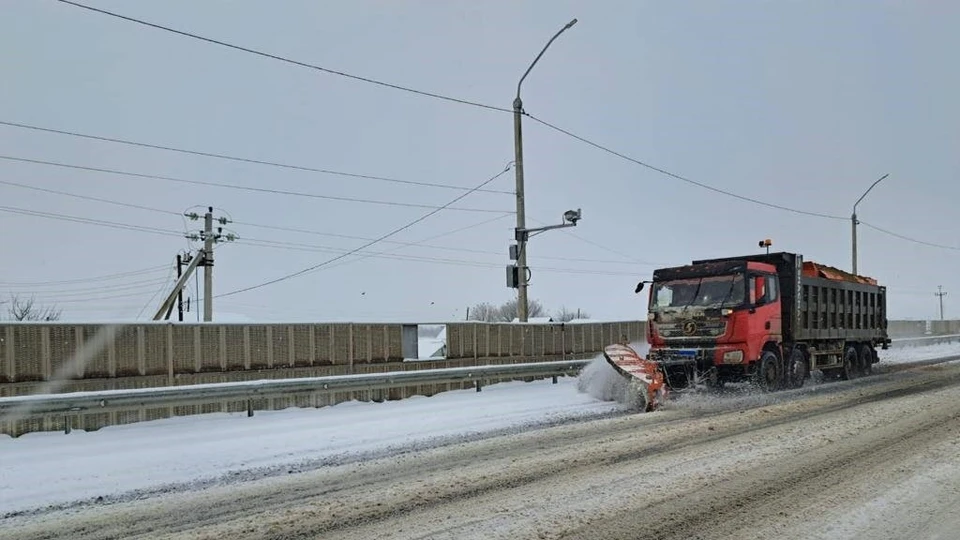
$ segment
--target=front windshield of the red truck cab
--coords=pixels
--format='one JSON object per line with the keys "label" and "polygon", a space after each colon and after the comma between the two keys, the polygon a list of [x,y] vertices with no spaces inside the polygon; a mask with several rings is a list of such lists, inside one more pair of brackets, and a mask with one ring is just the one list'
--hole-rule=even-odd
{"label": "front windshield of the red truck cab", "polygon": [[653,284],[650,311],[736,307],[746,301],[742,274],[677,279]]}

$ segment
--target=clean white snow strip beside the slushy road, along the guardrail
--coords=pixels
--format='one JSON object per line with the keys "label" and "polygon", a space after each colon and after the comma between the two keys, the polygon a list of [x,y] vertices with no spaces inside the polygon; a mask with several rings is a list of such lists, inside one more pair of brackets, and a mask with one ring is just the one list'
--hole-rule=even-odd
{"label": "clean white snow strip beside the slushy road, along the guardrail", "polygon": [[[645,352],[645,346],[638,346]],[[960,354],[960,344],[890,349],[884,363]],[[617,414],[619,377],[598,359],[578,378],[511,382],[385,403],[342,403],[177,417],[95,432],[0,436],[0,517],[97,498],[163,492],[177,485],[256,478]]]}

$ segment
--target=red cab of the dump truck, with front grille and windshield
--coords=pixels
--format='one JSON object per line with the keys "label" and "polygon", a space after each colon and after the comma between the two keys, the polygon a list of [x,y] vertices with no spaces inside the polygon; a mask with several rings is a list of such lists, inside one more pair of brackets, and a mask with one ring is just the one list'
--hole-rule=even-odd
{"label": "red cab of the dump truck, with front grille and windshield", "polygon": [[648,359],[662,366],[674,388],[744,380],[764,347],[782,341],[779,278],[771,264],[660,269],[648,300]]}

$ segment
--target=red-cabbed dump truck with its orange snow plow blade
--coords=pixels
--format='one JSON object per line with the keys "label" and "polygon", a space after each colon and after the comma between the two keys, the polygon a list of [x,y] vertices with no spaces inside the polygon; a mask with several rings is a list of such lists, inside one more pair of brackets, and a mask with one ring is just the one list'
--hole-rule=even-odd
{"label": "red-cabbed dump truck with its orange snow plow blade", "polygon": [[646,283],[647,358],[622,345],[606,356],[625,375],[630,365],[656,368],[657,378],[642,381],[655,386],[648,409],[664,391],[700,384],[754,381],[779,390],[803,385],[813,370],[860,377],[890,344],[885,287],[799,254],[695,260],[655,270],[636,292]]}

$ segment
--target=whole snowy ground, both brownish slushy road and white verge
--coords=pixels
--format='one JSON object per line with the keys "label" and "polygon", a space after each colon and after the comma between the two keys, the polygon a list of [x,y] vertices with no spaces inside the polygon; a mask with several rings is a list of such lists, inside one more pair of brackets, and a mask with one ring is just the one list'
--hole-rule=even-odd
{"label": "whole snowy ground, both brownish slushy road and white verge", "polygon": [[[941,345],[884,359],[958,353]],[[597,399],[616,380],[604,368],[585,374],[588,393],[561,379],[0,438],[0,538],[882,539],[960,530],[946,510],[960,495],[958,366],[697,397],[647,415]]]}

